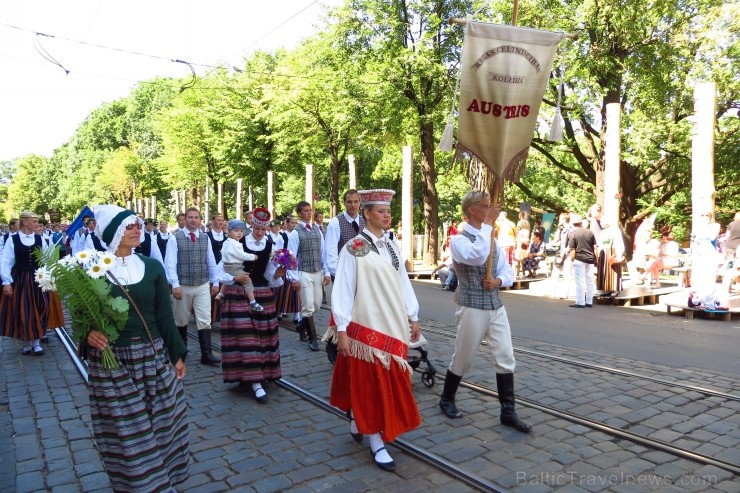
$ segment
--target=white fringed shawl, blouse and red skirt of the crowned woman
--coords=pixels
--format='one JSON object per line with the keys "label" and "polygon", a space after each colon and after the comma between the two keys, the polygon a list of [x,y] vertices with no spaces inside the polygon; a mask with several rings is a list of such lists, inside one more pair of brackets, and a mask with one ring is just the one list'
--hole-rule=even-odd
{"label": "white fringed shawl, blouse and red skirt of the crowned woman", "polygon": [[352,410],[360,433],[393,441],[413,430],[421,416],[406,361],[409,320],[418,320],[414,295],[398,246],[367,229],[339,255],[332,292],[332,322],[324,340],[347,331],[351,356],[334,367],[331,404]]}

